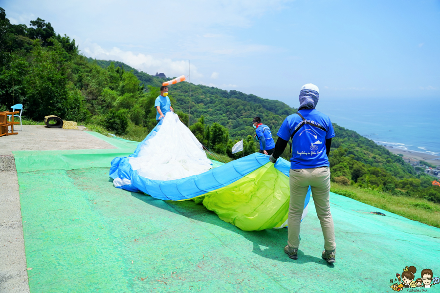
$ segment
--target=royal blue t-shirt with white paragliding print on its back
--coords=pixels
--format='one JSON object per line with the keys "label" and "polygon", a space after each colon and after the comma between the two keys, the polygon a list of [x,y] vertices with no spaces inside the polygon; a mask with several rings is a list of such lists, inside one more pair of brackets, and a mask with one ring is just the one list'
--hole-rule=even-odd
{"label": "royal blue t-shirt with white paragliding print on its back", "polygon": [[[311,125],[304,125],[295,133],[292,139],[291,169],[308,169],[328,166],[329,158],[326,154],[326,139],[334,137],[333,126],[329,116],[315,110],[304,109],[298,111],[309,122],[322,126],[326,131]],[[278,130],[277,135],[289,141],[293,131],[300,126],[302,119],[298,114],[287,116]]]}

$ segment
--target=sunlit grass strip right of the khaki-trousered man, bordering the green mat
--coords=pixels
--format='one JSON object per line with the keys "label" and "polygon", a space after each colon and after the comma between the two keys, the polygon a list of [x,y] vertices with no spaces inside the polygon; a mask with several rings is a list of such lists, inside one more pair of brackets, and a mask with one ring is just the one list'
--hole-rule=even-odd
{"label": "sunlit grass strip right of the khaki-trousered man, bordering the green mat", "polygon": [[350,197],[373,207],[393,212],[410,220],[440,228],[440,205],[424,199],[395,196],[371,189],[331,183],[331,192]]}

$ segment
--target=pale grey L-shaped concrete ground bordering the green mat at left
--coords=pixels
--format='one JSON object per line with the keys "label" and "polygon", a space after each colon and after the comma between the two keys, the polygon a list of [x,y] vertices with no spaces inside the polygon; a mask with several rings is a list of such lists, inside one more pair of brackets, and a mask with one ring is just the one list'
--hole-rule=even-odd
{"label": "pale grey L-shaped concrete ground bordering the green mat at left", "polygon": [[17,132],[18,135],[0,137],[1,293],[29,292],[19,185],[12,151],[116,148],[82,130],[24,125],[23,131]]}

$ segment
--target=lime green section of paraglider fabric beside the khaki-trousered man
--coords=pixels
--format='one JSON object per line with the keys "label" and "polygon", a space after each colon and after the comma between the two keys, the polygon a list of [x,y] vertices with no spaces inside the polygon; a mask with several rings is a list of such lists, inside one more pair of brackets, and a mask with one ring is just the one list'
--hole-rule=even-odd
{"label": "lime green section of paraglider fabric beside the khaki-trousered man", "polygon": [[245,231],[279,227],[287,219],[289,178],[267,163],[229,186],[206,193],[203,205]]}

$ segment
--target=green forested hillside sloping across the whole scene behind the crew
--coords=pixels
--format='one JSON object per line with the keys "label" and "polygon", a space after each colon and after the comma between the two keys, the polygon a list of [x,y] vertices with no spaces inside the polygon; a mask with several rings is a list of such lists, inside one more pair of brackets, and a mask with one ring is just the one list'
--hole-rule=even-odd
{"label": "green forested hillside sloping across the whole scene behind the crew", "polygon": [[[38,18],[29,27],[11,24],[0,8],[0,111],[21,103],[26,119],[57,115],[141,140],[155,126],[154,100],[162,82],[120,62],[80,55],[75,41],[56,34],[50,22]],[[231,153],[240,139],[244,155],[257,151],[254,116],[276,134],[286,116],[296,112],[280,101],[182,82],[169,87],[169,96],[185,124],[190,86],[190,129],[204,146],[232,159],[243,155]],[[334,128],[333,181],[440,203],[440,188],[432,186],[430,177],[356,132]],[[283,154],[287,159],[288,151]]]}

